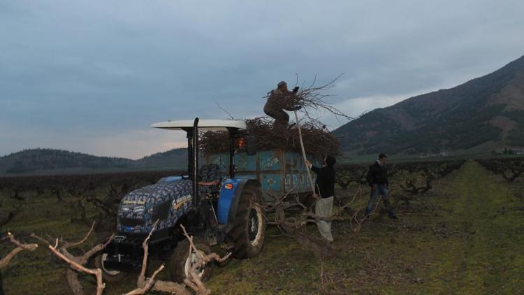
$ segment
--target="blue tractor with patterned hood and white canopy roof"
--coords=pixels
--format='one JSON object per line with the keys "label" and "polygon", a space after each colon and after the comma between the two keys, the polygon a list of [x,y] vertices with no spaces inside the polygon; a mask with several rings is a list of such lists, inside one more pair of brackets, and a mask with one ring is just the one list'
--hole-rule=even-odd
{"label": "blue tractor with patterned hood and white canopy roof", "polygon": [[[245,136],[245,122],[196,118],[161,122],[152,127],[186,132],[187,173],[162,178],[154,185],[124,196],[118,207],[117,234],[95,260],[105,280],[119,280],[128,273],[140,271],[142,243],[152,230],[150,257],[169,261],[170,277],[175,282],[187,278],[192,264],[202,254],[209,254],[214,245],[220,245],[240,259],[258,255],[266,226],[261,182],[235,178],[233,164],[235,153],[256,153],[254,141],[239,141]],[[221,177],[216,164],[199,165],[199,131],[228,132],[227,178]],[[238,142],[246,143],[242,151]],[[189,242],[182,235],[180,224],[194,235],[198,253],[189,253]],[[211,270],[210,263],[198,269],[198,275],[204,280]]]}

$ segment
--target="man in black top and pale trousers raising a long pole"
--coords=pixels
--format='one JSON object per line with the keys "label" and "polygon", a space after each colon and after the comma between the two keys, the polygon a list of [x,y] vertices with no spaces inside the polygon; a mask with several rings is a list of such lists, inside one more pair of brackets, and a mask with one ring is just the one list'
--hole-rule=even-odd
{"label": "man in black top and pale trousers raising a long pole", "polygon": [[[315,181],[315,198],[320,198],[315,203],[315,214],[321,217],[330,217],[333,212],[333,196],[335,195],[335,157],[329,155],[324,159],[322,167],[313,166],[310,161],[306,161],[306,165],[316,173]],[[328,242],[333,242],[333,235],[331,234],[331,222],[327,220],[319,220],[316,222],[320,234]]]}

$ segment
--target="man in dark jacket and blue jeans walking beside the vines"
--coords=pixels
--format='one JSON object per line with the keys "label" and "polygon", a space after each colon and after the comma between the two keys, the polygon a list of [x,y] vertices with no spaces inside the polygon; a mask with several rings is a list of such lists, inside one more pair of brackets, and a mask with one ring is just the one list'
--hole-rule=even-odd
{"label": "man in dark jacket and blue jeans walking beside the vines", "polygon": [[379,154],[379,159],[377,159],[377,161],[370,166],[370,170],[367,171],[366,180],[367,184],[370,185],[371,193],[370,201],[365,208],[366,217],[369,217],[370,213],[372,213],[374,202],[376,202],[379,199],[379,195],[381,195],[382,200],[384,201],[384,206],[386,206],[386,210],[388,210],[389,218],[397,219],[395,213],[393,213],[393,210],[391,209],[391,204],[389,203],[389,181],[386,159],[387,157],[385,154]]}

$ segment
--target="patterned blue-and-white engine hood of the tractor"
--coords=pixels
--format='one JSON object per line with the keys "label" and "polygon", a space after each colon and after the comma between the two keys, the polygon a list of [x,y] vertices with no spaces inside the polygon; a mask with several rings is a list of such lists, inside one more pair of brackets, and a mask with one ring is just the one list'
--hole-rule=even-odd
{"label": "patterned blue-and-white engine hood of the tractor", "polygon": [[193,207],[191,189],[191,180],[162,179],[126,194],[118,206],[117,231],[149,233],[157,220],[155,231],[175,226]]}

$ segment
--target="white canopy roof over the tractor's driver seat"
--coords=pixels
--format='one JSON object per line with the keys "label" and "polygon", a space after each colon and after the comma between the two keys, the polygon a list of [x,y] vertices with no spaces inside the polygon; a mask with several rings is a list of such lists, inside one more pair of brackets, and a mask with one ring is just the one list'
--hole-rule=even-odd
{"label": "white canopy roof over the tractor's driver seat", "polygon": [[[152,124],[153,128],[183,130],[193,128],[194,120],[176,120]],[[198,120],[198,130],[201,131],[228,131],[228,128],[246,129],[244,121],[233,120]]]}

